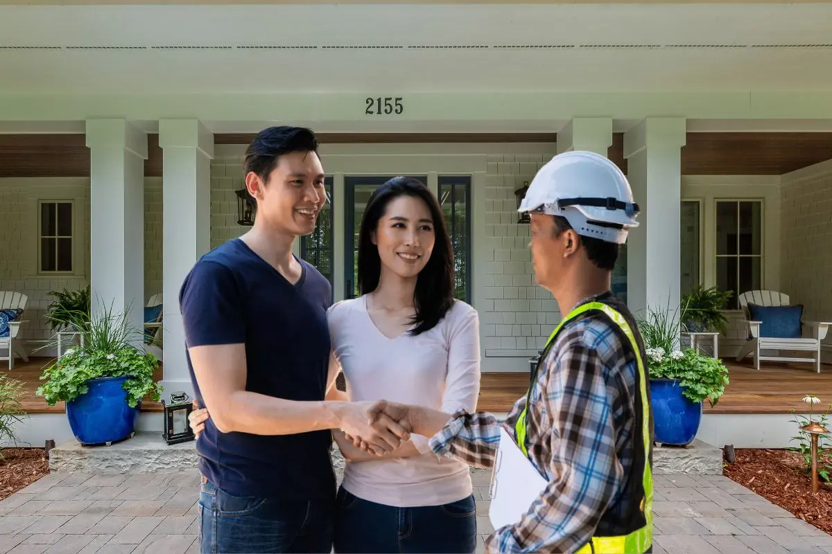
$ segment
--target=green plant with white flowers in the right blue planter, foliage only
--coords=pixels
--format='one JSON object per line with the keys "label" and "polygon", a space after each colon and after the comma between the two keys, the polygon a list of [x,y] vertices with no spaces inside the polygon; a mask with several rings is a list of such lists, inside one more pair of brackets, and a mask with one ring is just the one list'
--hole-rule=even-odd
{"label": "green plant with white flowers in the right blue planter, foliage only", "polygon": [[681,325],[670,311],[648,310],[638,329],[647,354],[651,379],[679,382],[682,395],[691,402],[719,402],[728,385],[728,368],[722,360],[702,355],[694,348],[681,349]]}

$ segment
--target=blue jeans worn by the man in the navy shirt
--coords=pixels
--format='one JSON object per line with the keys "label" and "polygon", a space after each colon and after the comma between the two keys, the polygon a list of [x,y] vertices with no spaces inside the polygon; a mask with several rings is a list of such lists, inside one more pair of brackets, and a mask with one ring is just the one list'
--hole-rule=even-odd
{"label": "blue jeans worn by the man in the navy shirt", "polygon": [[202,479],[200,550],[225,552],[332,551],[335,504],[236,497]]}

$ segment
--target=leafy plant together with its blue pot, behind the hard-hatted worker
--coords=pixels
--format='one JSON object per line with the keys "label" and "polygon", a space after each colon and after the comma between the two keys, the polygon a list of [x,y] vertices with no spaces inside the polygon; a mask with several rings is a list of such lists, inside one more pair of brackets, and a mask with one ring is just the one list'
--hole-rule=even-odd
{"label": "leafy plant together with its blue pot, behind the hard-hatted worker", "polygon": [[648,309],[638,326],[647,353],[654,440],[691,444],[701,424],[702,402],[719,402],[728,385],[728,368],[696,349],[680,350],[681,325],[669,310]]}

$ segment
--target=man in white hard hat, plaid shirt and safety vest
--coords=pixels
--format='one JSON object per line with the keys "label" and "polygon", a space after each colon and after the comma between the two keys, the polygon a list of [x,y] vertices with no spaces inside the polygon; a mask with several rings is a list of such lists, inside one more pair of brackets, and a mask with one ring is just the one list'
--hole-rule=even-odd
{"label": "man in white hard hat, plaid shirt and safety vest", "polygon": [[[522,487],[542,484],[527,494],[532,502],[525,509],[509,507],[516,520],[488,537],[488,552],[651,552],[646,353],[634,317],[611,291],[619,245],[638,224],[630,185],[602,155],[558,154],[532,180],[519,211],[531,217],[537,284],[566,316],[546,343],[527,395],[508,414],[503,440],[501,422],[484,412],[447,414],[382,400],[371,414],[431,437],[438,455],[494,468],[498,450],[505,460],[504,449],[513,448],[533,468],[533,479],[518,483],[517,473],[497,463],[492,521],[496,509],[505,512],[505,503],[522,497]],[[522,486],[500,489],[501,479],[510,478]],[[502,506],[494,504],[503,498]]]}

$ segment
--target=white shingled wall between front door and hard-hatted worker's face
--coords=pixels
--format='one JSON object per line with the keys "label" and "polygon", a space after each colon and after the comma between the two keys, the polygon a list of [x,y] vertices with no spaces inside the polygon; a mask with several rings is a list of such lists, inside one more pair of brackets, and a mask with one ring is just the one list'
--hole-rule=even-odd
{"label": "white shingled wall between front door and hard-hatted worker's face", "polygon": [[546,343],[560,312],[552,294],[533,280],[529,227],[518,224],[514,191],[531,182],[542,164],[554,155],[489,155],[485,189],[486,248],[474,260],[484,287],[478,305],[482,341],[487,357],[534,355]]}

